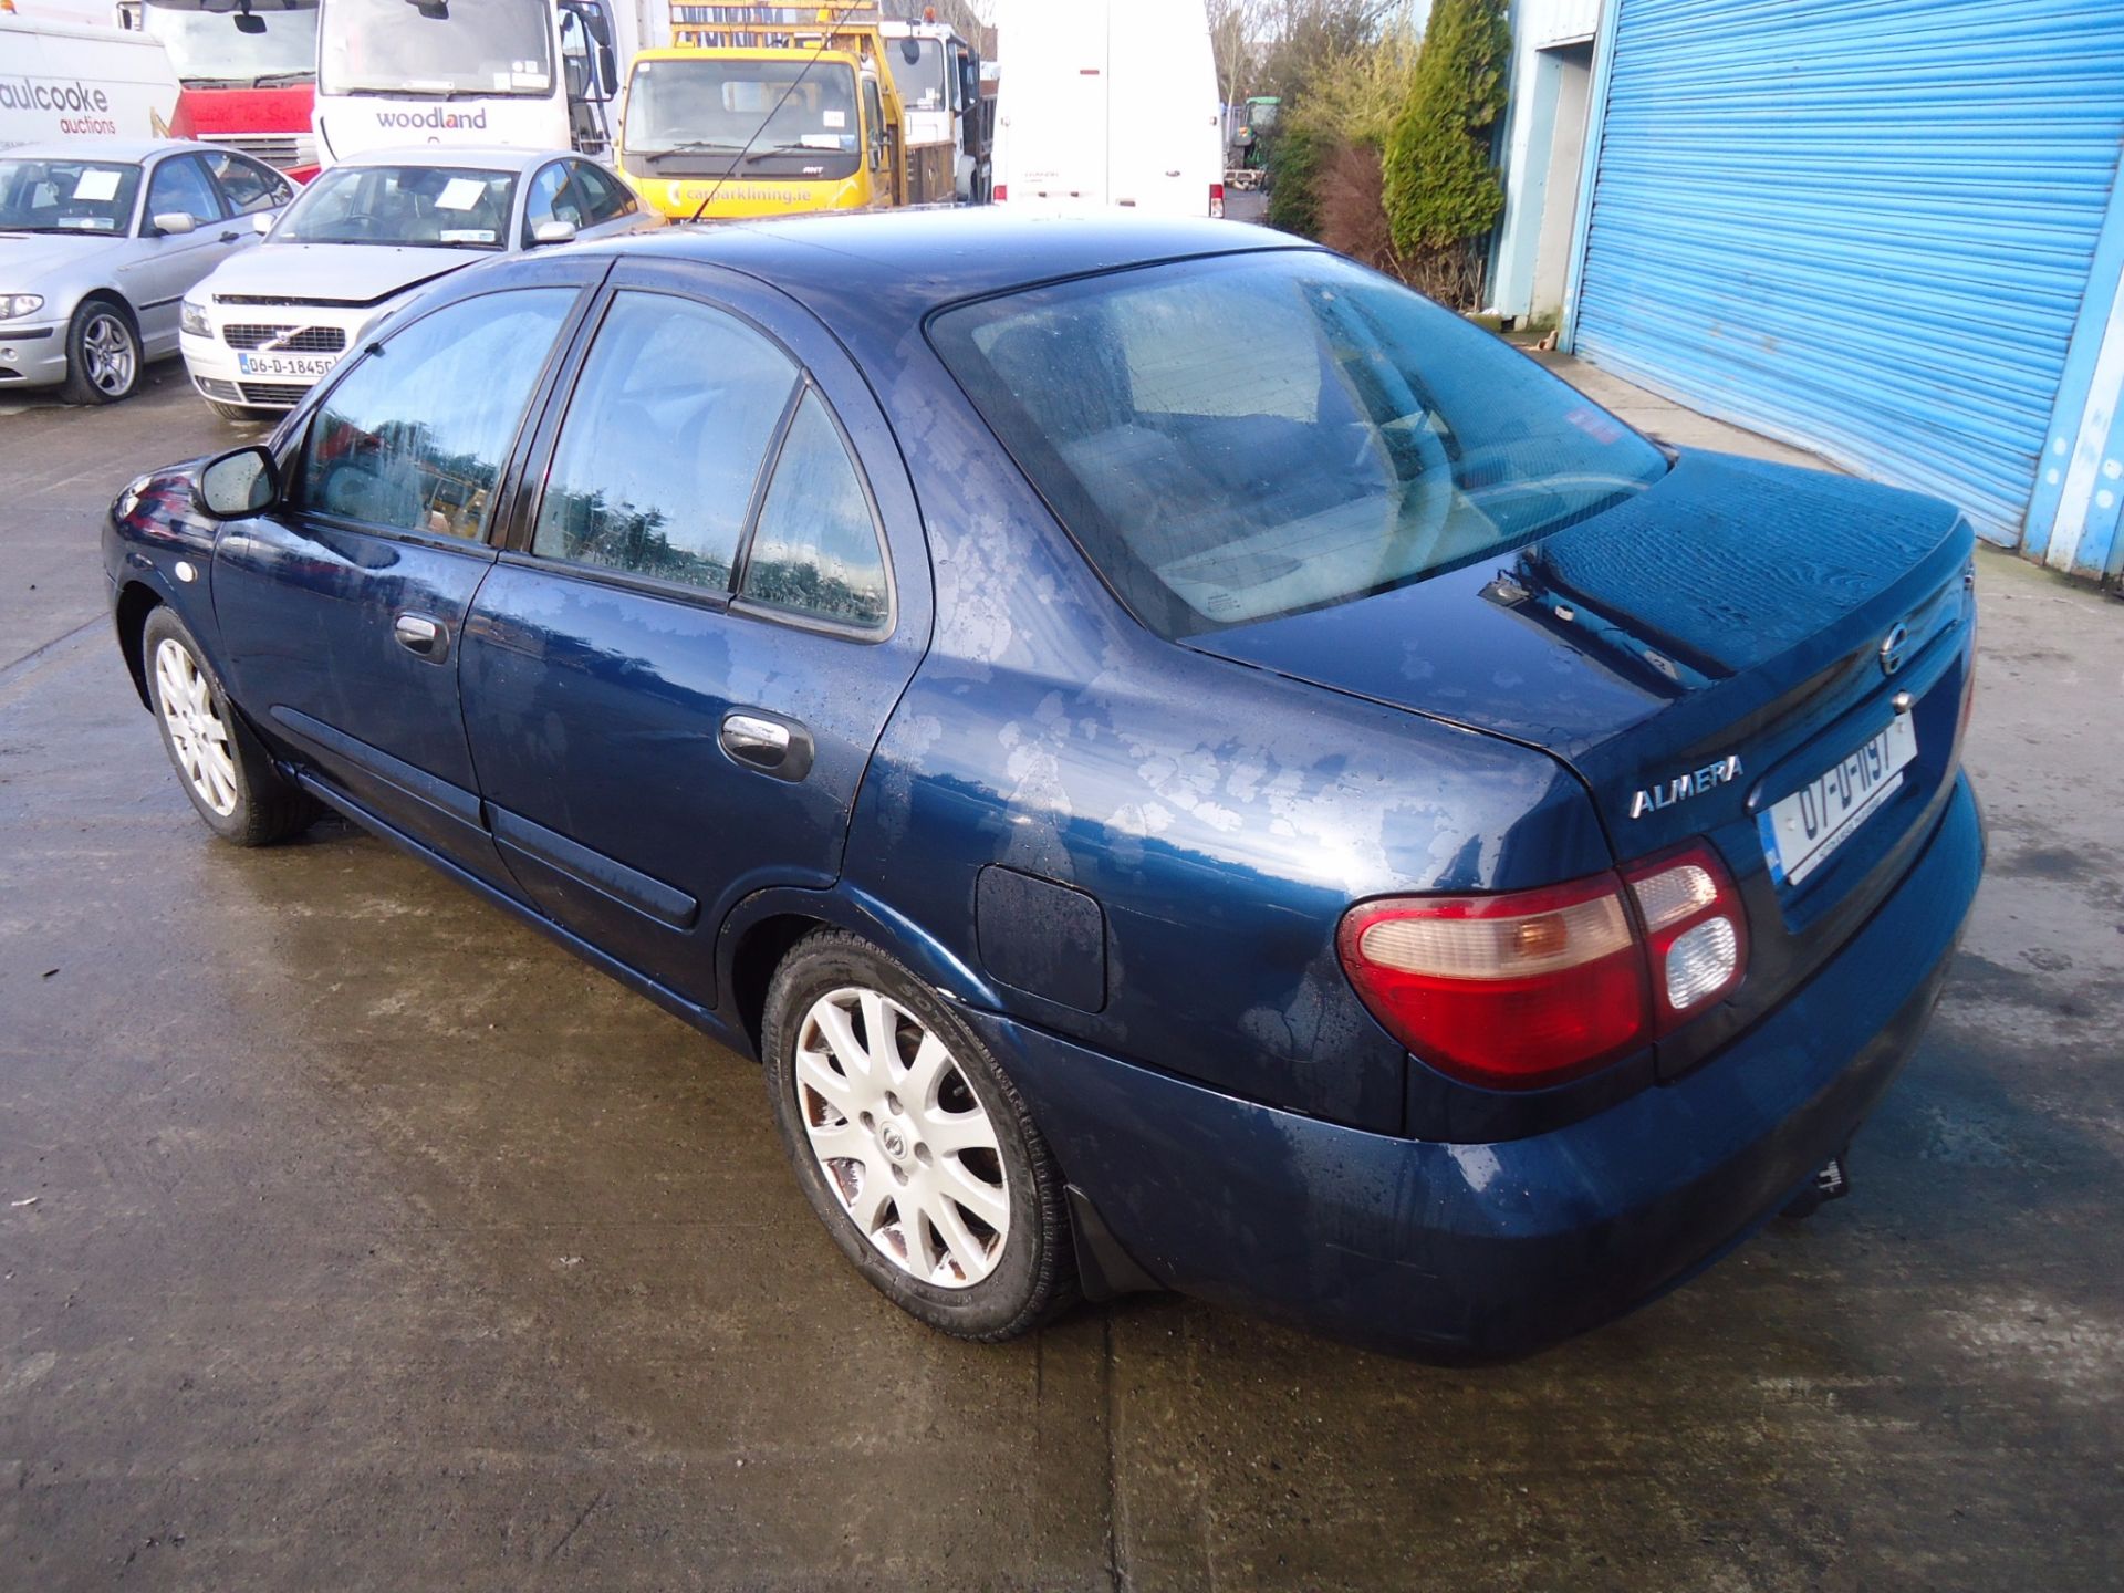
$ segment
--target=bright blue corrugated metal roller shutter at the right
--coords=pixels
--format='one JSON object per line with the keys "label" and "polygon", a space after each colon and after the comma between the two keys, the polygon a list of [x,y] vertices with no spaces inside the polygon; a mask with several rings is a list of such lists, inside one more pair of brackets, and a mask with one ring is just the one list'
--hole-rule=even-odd
{"label": "bright blue corrugated metal roller shutter at the right", "polygon": [[1614,0],[1576,350],[2014,544],[2124,136],[2124,0]]}

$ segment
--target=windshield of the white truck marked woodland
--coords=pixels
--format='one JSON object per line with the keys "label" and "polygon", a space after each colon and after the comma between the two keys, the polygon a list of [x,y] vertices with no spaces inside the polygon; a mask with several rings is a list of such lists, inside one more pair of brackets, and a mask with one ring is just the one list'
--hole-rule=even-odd
{"label": "windshield of the white truck marked woodland", "polygon": [[550,0],[323,0],[323,93],[552,93]]}

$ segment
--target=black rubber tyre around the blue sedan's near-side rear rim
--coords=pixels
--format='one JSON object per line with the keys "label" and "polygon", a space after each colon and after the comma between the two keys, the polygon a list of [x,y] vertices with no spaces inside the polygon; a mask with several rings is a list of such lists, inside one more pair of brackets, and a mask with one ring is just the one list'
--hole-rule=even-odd
{"label": "black rubber tyre around the blue sedan's near-side rear rim", "polygon": [[[845,990],[873,990],[886,996],[943,1041],[956,1070],[956,1081],[945,1087],[971,1092],[973,1102],[994,1130],[994,1170],[1000,1175],[1000,1187],[1009,1194],[1009,1219],[1000,1232],[988,1230],[990,1238],[1000,1240],[1000,1249],[992,1257],[992,1270],[975,1283],[956,1287],[930,1283],[894,1260],[881,1247],[884,1240],[890,1240],[890,1226],[881,1226],[884,1240],[867,1236],[850,1215],[850,1200],[828,1181],[826,1168],[811,1149],[805,1104],[799,1102],[796,1090],[796,1047],[813,1007]],[[911,1032],[901,1030],[903,1056]],[[826,1232],[833,1234],[833,1243],[892,1304],[956,1338],[998,1342],[1039,1328],[1075,1302],[1077,1260],[1062,1172],[1034,1128],[1017,1087],[958,1013],[939,1000],[926,983],[869,941],[841,930],[818,930],[799,941],[775,969],[767,994],[760,1049],[767,1098],[773,1107],[775,1128],[782,1132],[782,1147],[796,1170],[796,1183]],[[824,1096],[813,1092],[811,1100],[824,1102]],[[915,1145],[913,1151],[920,1153],[926,1147]],[[913,1170],[909,1164],[909,1172]],[[890,1189],[890,1185],[886,1187]],[[962,1215],[973,1213],[962,1209]],[[973,1228],[981,1226],[973,1223]],[[935,1234],[937,1230],[924,1232]],[[941,1264],[949,1266],[949,1262]]]}

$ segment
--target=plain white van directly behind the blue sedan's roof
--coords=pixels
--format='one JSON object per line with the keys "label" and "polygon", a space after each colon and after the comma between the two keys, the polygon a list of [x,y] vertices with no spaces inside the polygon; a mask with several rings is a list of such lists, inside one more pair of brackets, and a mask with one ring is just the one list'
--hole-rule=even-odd
{"label": "plain white van directly behind the blue sedan's roof", "polygon": [[1202,0],[1007,0],[996,40],[996,204],[1223,215]]}

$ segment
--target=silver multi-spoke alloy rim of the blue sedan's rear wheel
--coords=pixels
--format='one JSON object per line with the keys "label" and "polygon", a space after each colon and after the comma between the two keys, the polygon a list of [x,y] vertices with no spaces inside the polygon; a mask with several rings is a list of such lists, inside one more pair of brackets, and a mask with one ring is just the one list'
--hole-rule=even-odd
{"label": "silver multi-spoke alloy rim of the blue sedan's rear wheel", "polygon": [[996,1126],[952,1049],[875,990],[830,990],[796,1030],[796,1111],[826,1185],[903,1272],[986,1279],[1011,1236]]}

